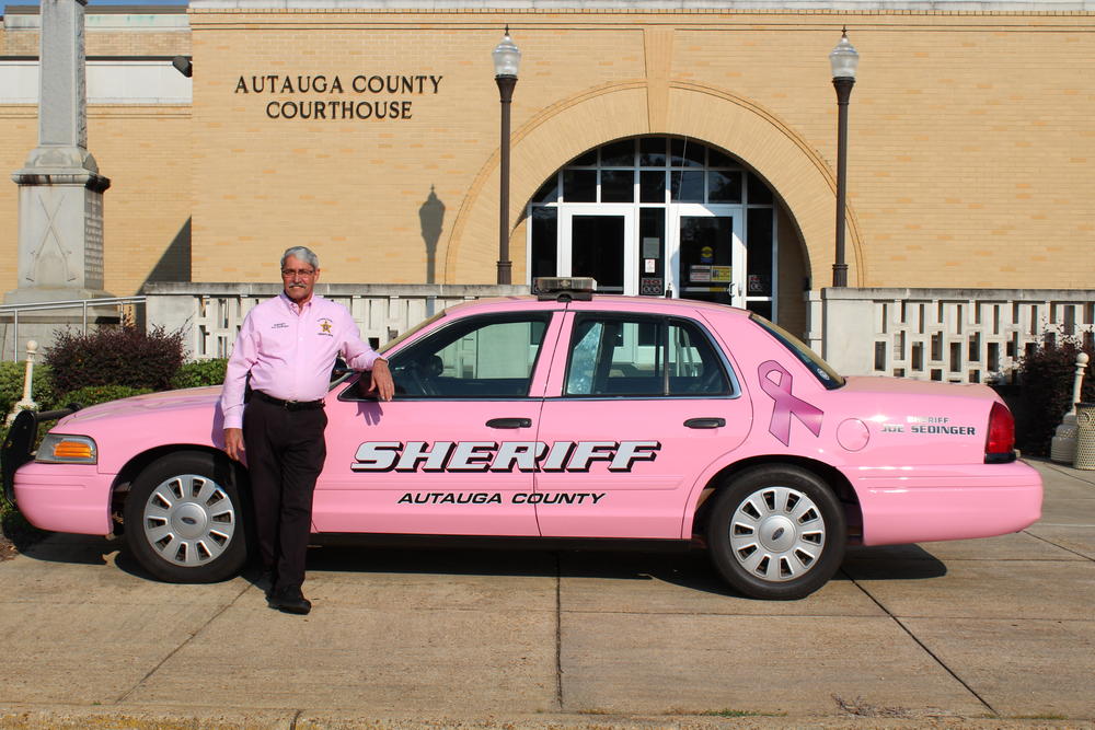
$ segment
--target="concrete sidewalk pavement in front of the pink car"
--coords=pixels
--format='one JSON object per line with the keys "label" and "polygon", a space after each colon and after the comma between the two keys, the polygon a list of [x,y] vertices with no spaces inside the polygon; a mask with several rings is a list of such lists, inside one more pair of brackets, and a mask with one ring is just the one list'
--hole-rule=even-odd
{"label": "concrete sidewalk pavement in front of the pink car", "polygon": [[1095,472],[1033,464],[1029,530],[785,603],[702,553],[321,547],[298,617],[56,535],[0,564],[0,728],[1095,727]]}

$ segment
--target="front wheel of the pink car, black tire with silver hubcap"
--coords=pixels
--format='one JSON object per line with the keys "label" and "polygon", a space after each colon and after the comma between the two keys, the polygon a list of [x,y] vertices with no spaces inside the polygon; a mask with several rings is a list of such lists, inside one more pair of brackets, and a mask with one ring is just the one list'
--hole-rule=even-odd
{"label": "front wheel of the pink car, black tire with silver hubcap", "polygon": [[181,451],[140,473],[126,498],[126,544],[169,583],[215,583],[247,561],[246,506],[227,456]]}

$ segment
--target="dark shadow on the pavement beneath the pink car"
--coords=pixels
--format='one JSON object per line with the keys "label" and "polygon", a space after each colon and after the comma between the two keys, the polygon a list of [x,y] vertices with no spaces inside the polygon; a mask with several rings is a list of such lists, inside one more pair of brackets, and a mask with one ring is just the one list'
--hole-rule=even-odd
{"label": "dark shadow on the pavement beneath the pink car", "polygon": [[[25,553],[44,563],[105,565],[113,561],[131,576],[155,580],[118,540],[87,535],[50,535]],[[309,571],[448,576],[530,576],[601,580],[661,581],[694,591],[740,598],[726,586],[699,548],[670,552],[622,549],[553,549],[505,542],[488,547],[377,545],[342,542],[309,549]],[[833,580],[921,580],[946,575],[946,566],[919,545],[850,547]],[[260,582],[261,570],[249,566],[243,576]]]}

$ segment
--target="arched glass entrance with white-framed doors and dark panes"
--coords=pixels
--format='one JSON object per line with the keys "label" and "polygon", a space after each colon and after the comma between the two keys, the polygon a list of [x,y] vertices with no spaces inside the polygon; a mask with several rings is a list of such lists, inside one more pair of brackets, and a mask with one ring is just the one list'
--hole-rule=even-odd
{"label": "arched glass entrance with white-framed doors and dark panes", "polygon": [[641,136],[556,171],[528,207],[530,280],[591,276],[607,293],[681,297],[779,318],[777,204],[733,155]]}

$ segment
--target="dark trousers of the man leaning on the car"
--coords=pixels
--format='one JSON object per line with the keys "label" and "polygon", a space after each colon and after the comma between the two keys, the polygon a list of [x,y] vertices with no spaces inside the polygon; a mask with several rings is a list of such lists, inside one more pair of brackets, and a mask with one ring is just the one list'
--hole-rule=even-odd
{"label": "dark trousers of the man leaning on the car", "polygon": [[312,526],[312,493],[323,470],[327,416],[322,408],[286,410],[252,397],[243,415],[251,493],[263,567],[274,590],[300,588]]}

